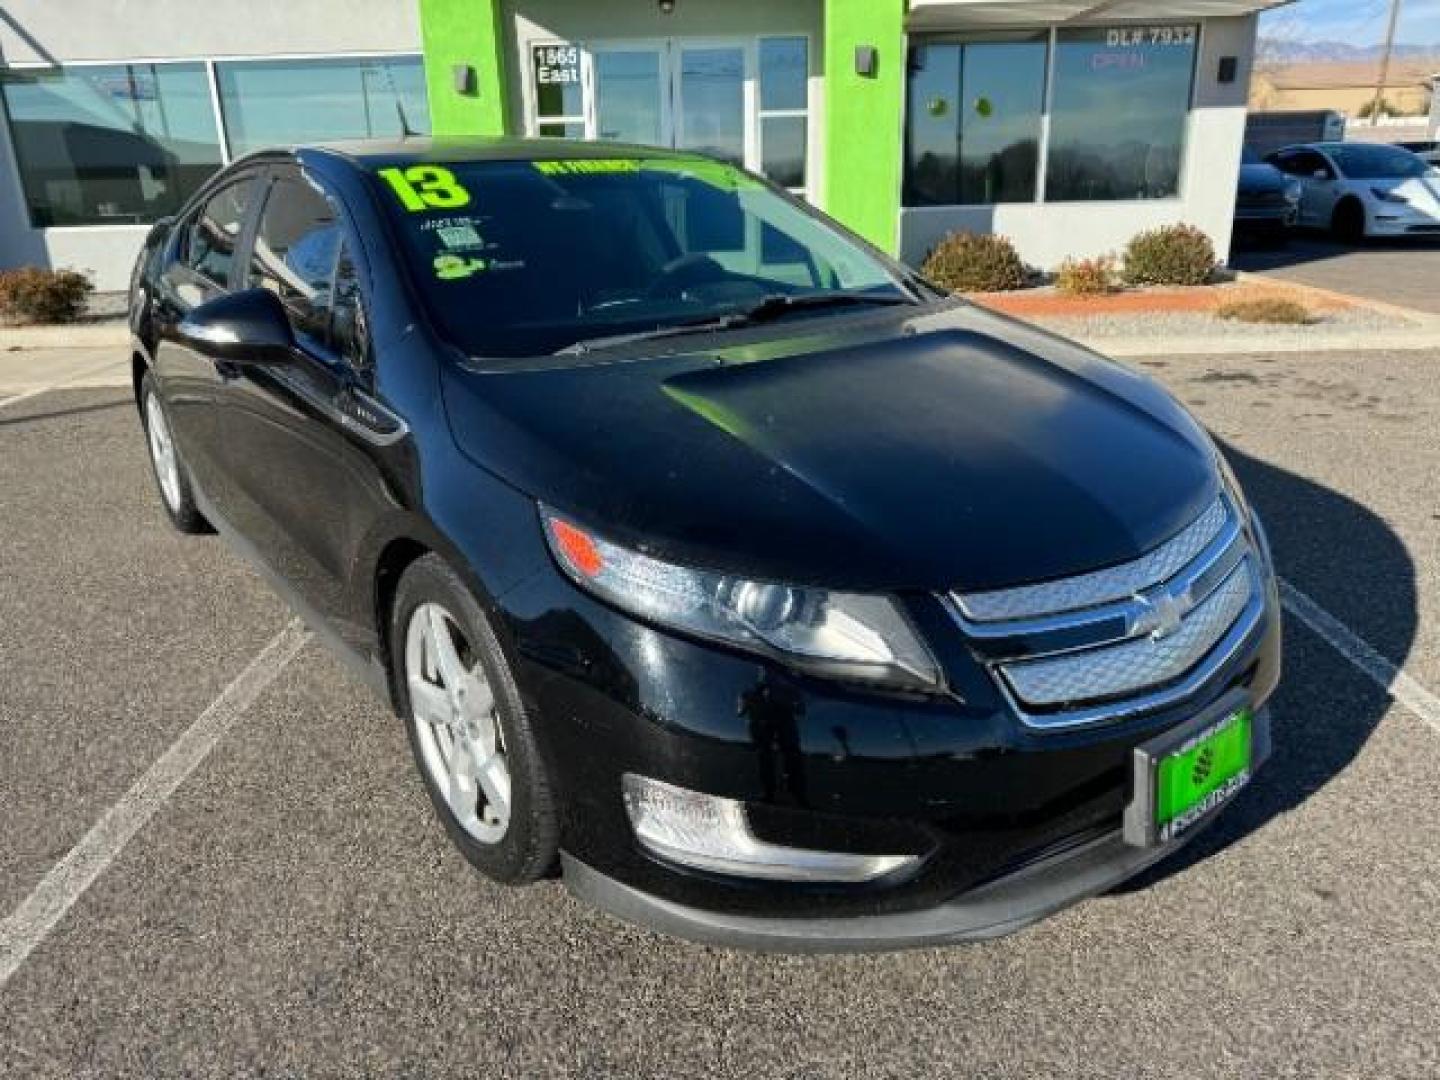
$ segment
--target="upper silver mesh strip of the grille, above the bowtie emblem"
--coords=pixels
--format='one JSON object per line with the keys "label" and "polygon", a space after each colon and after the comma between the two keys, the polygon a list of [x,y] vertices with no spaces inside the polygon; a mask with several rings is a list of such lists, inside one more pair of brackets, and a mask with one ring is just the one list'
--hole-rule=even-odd
{"label": "upper silver mesh strip of the grille, above the bowtie emblem", "polygon": [[1225,500],[1217,498],[1189,526],[1133,562],[1057,582],[955,593],[955,602],[968,621],[986,624],[1063,615],[1123,600],[1174,577],[1210,547],[1227,524],[1238,528],[1234,517]]}

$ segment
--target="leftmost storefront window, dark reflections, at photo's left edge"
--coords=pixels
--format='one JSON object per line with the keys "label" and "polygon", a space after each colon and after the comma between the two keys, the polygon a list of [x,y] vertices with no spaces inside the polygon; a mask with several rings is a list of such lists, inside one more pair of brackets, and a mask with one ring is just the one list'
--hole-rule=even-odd
{"label": "leftmost storefront window, dark reflections, at photo's left edge", "polygon": [[203,63],[9,71],[0,91],[36,228],[153,222],[220,166]]}

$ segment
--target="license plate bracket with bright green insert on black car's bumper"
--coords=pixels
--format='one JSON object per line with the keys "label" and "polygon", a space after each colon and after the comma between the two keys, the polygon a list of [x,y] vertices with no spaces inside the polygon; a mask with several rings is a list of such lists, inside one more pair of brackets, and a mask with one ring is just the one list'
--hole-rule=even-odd
{"label": "license plate bracket with bright green insert on black car's bumper", "polygon": [[1270,756],[1269,714],[1244,691],[1233,691],[1132,753],[1125,840],[1135,847],[1175,844],[1230,804]]}

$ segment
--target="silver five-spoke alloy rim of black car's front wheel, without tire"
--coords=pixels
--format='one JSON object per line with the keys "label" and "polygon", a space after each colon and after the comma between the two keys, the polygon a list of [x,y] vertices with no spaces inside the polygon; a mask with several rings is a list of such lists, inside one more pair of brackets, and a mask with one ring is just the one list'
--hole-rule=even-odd
{"label": "silver five-spoke alloy rim of black car's front wheel, without tire", "polygon": [[465,634],[422,603],[405,634],[405,680],[420,760],[455,821],[482,844],[510,827],[510,766],[495,694]]}

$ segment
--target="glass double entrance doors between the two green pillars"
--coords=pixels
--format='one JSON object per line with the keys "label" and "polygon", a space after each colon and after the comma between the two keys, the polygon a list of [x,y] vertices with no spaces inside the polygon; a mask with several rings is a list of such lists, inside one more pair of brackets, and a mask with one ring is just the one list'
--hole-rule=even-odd
{"label": "glass double entrance doors between the two green pillars", "polygon": [[752,52],[743,42],[595,45],[586,134],[700,150],[756,168]]}

